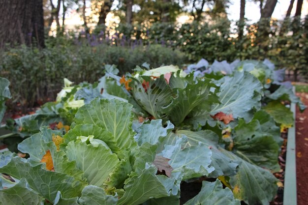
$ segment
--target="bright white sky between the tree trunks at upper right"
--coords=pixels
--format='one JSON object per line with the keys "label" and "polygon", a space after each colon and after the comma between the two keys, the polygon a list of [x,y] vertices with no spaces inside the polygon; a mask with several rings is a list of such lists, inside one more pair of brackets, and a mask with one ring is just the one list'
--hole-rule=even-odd
{"label": "bright white sky between the tree trunks at upper right", "polygon": [[[291,16],[294,16],[296,9],[295,0]],[[288,10],[290,0],[278,0],[272,18],[282,20]],[[230,20],[237,21],[240,18],[240,0],[231,0],[231,4],[227,9],[228,18]],[[308,0],[304,0],[302,9],[302,18],[308,14]],[[255,3],[252,0],[246,0],[245,6],[245,18],[251,22],[257,22],[260,19],[260,8],[259,3]]]}

